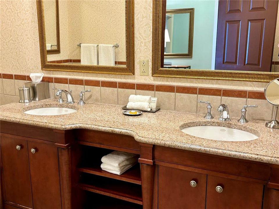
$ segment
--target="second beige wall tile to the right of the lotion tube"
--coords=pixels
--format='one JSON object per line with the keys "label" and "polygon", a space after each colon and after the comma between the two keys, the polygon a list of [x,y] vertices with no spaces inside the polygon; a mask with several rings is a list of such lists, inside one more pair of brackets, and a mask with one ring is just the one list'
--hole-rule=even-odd
{"label": "second beige wall tile to the right of the lotion tube", "polygon": [[197,100],[198,100],[198,95],[196,94],[176,93],[175,110],[196,113]]}

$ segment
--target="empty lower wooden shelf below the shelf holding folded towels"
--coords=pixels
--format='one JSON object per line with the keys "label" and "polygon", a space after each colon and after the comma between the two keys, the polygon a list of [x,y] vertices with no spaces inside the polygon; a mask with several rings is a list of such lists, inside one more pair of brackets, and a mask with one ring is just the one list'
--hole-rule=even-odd
{"label": "empty lower wooden shelf below the shelf holding folded towels", "polygon": [[94,184],[78,183],[77,187],[97,194],[114,197],[124,201],[142,205],[141,186],[127,182],[116,183],[117,180],[96,181]]}

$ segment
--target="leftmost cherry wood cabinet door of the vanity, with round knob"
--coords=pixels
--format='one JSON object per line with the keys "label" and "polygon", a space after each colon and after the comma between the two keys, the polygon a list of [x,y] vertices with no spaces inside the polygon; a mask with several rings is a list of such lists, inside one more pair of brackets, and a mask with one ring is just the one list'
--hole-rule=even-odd
{"label": "leftmost cherry wood cabinet door of the vanity, with round knob", "polygon": [[6,201],[32,208],[27,141],[1,134],[0,144]]}

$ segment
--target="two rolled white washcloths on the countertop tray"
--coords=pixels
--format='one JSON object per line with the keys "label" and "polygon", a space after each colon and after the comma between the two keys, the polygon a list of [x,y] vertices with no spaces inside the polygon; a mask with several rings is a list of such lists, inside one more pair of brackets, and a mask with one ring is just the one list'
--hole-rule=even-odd
{"label": "two rolled white washcloths on the countertop tray", "polygon": [[126,106],[128,109],[151,110],[151,96],[130,95],[129,102]]}

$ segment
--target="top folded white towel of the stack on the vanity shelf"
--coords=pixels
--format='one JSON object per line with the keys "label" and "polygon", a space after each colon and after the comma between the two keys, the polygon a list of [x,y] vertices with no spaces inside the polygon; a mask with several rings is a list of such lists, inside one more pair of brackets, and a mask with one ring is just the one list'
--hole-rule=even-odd
{"label": "top folded white towel of the stack on the vanity shelf", "polygon": [[102,163],[112,165],[115,167],[121,167],[123,165],[128,165],[134,162],[137,162],[139,156],[137,154],[113,151],[110,154],[107,154],[102,157]]}

